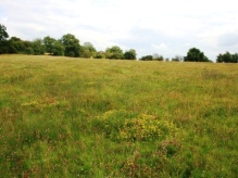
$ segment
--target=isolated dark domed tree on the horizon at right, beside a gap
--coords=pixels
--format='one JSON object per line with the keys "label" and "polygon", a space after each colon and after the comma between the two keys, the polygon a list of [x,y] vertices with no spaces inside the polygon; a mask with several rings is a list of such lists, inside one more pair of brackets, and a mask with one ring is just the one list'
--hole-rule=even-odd
{"label": "isolated dark domed tree on the horizon at right, beside a gap", "polygon": [[209,62],[209,59],[197,48],[191,48],[187,56],[184,59],[185,62]]}

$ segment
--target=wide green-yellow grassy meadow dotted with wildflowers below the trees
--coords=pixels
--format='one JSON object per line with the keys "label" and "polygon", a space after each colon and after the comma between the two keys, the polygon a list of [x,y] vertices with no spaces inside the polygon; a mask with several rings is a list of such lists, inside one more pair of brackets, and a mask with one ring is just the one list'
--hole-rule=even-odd
{"label": "wide green-yellow grassy meadow dotted with wildflowers below the trees", "polygon": [[237,177],[238,65],[0,55],[0,177]]}

